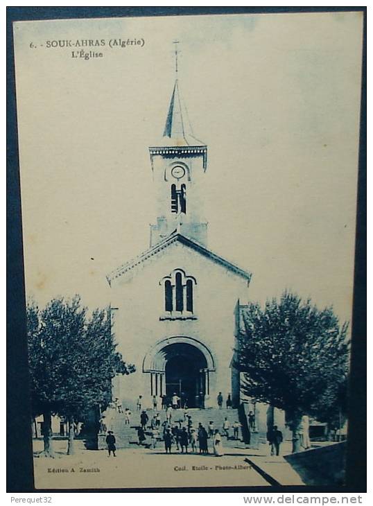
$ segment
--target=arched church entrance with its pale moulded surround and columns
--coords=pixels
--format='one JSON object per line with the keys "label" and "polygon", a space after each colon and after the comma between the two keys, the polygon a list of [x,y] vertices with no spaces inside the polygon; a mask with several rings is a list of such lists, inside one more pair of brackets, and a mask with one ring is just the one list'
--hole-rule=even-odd
{"label": "arched church entrance with its pale moulded surround and columns", "polygon": [[171,403],[173,394],[186,399],[189,408],[199,407],[209,395],[214,358],[199,340],[185,336],[157,342],[144,358],[143,372],[150,373],[150,396]]}

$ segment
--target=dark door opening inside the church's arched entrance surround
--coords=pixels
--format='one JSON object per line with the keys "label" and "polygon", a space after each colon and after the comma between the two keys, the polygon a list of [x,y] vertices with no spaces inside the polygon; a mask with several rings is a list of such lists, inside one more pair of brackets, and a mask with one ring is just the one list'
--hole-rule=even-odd
{"label": "dark door opening inside the church's arched entrance surround", "polygon": [[191,344],[170,344],[164,348],[166,396],[177,394],[189,408],[199,404],[200,392],[207,392],[207,361],[202,352]]}

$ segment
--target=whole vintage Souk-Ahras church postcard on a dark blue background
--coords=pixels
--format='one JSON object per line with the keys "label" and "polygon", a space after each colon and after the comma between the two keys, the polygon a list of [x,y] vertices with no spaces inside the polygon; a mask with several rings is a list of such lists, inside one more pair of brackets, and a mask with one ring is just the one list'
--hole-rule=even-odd
{"label": "whole vintage Souk-Ahras church postcard on a dark blue background", "polygon": [[35,488],[342,485],[363,13],[13,33]]}

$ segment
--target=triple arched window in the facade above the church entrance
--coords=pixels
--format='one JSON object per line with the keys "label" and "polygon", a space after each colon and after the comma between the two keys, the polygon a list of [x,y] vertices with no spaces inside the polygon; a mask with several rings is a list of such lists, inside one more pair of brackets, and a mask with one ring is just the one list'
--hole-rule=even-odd
{"label": "triple arched window in the facade above the church entrance", "polygon": [[164,285],[164,311],[193,313],[193,291],[197,284],[193,276],[187,276],[182,269],[175,269],[161,283]]}

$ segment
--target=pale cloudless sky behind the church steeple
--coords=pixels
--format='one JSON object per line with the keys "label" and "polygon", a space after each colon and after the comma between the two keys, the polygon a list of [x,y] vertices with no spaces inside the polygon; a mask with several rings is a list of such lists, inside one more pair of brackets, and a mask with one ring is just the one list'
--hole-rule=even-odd
{"label": "pale cloudless sky behind the church steeple", "polygon": [[[105,275],[148,248],[179,40],[209,247],[252,272],[251,301],[287,288],[350,320],[362,28],[361,12],[17,22],[27,294],[105,306]],[[48,47],[86,39],[103,58]]]}

